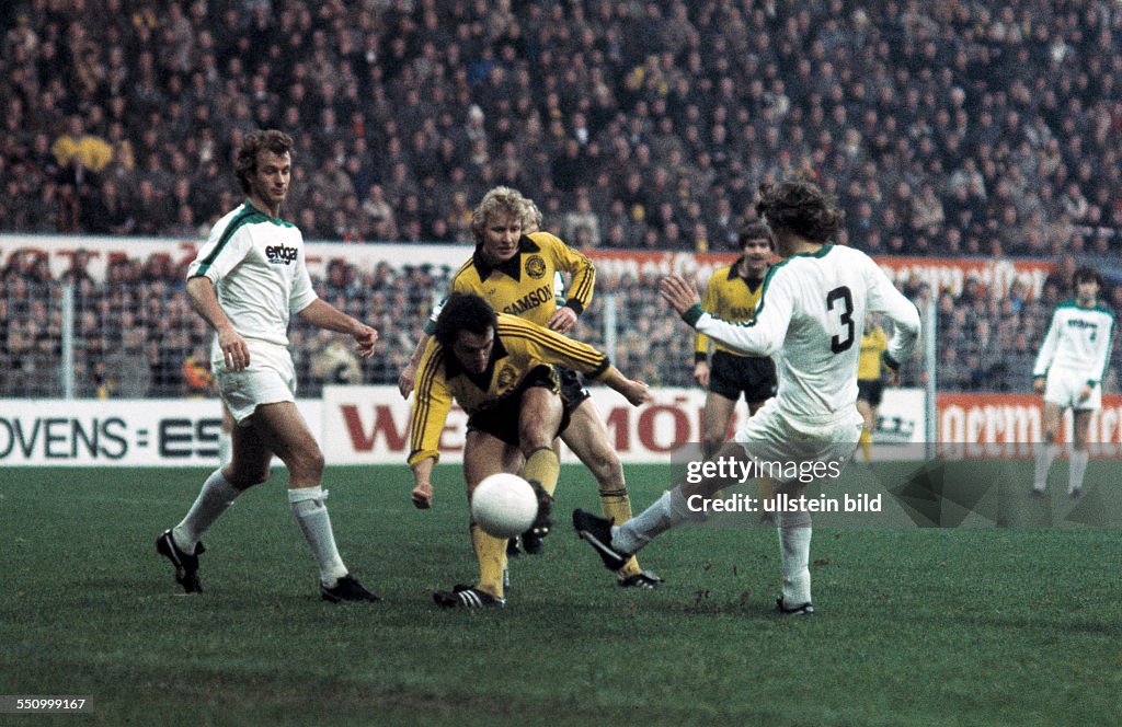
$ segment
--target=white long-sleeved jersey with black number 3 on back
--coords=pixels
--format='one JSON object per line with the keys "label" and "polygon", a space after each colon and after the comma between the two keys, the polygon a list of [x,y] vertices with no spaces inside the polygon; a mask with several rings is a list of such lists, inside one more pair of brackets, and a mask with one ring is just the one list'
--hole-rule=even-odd
{"label": "white long-sleeved jersey with black number 3 on back", "polygon": [[773,357],[775,407],[794,420],[828,422],[855,411],[867,313],[893,322],[885,356],[895,361],[911,353],[919,337],[916,306],[871,257],[850,247],[794,255],[769,269],[763,286],[753,321],[705,313],[693,326],[746,355]]}

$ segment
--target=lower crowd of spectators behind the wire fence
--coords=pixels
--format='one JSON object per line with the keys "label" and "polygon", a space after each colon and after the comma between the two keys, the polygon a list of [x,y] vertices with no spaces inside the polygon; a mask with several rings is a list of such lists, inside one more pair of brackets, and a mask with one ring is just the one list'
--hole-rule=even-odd
{"label": "lower crowd of spectators behind the wire fence", "polygon": [[[209,396],[212,333],[190,307],[184,272],[163,255],[119,260],[95,283],[74,256],[71,270],[53,278],[45,258],[10,256],[0,270],[0,397],[62,395],[63,283],[74,285],[75,396]],[[1020,283],[1008,295],[967,279],[958,295],[939,294],[938,386],[945,392],[1022,392],[1032,387],[1032,364],[1054,305],[1070,295],[1074,264],[1067,258],[1032,297]],[[344,337],[294,321],[291,332],[302,396],[324,384],[395,384],[427,320],[433,292],[447,291],[451,270],[387,263],[360,269],[342,259],[313,278],[321,297],[380,333],[376,355],[359,360]],[[916,279],[902,291],[926,307],[930,288]],[[1122,288],[1106,298],[1122,309]],[[610,302],[609,302],[610,301]],[[604,274],[597,295],[573,335],[604,347],[605,307],[616,306],[620,370],[650,384],[693,386],[693,339],[659,300],[653,276]],[[1115,337],[1105,393],[1118,393],[1122,337]],[[903,367],[903,384],[923,380],[922,351]]]}

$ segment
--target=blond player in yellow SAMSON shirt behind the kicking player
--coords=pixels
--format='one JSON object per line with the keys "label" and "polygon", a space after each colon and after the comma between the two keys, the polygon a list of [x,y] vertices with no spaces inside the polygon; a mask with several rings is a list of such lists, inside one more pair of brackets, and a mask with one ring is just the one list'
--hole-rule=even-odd
{"label": "blond player in yellow SAMSON shirt behind the kicking player", "polygon": [[[498,312],[565,333],[592,297],[596,269],[591,260],[555,236],[544,231],[526,233],[527,223],[536,227],[535,210],[530,200],[509,187],[498,186],[484,195],[471,221],[475,254],[456,273],[451,287],[452,292],[482,296]],[[558,272],[571,276],[562,306],[558,306],[553,291]],[[425,344],[423,338],[413,361],[420,360]],[[412,384],[407,374],[408,369],[398,381],[403,395],[407,395]],[[604,516],[622,523],[631,517],[631,497],[607,424],[577,374],[564,369],[560,374],[561,398],[569,420],[560,432],[561,440],[596,478]],[[534,533],[527,533],[522,541],[527,552],[541,551],[541,541]],[[619,569],[616,578],[625,588],[655,588],[662,583],[661,578],[644,571],[634,559]]]}

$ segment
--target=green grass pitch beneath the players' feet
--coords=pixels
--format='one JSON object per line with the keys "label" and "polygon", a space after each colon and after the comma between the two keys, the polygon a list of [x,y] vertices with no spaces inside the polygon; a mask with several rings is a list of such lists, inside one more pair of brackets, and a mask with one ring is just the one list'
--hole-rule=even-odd
{"label": "green grass pitch beneath the players' feet", "polygon": [[[665,468],[627,471],[636,509],[666,486]],[[319,600],[283,471],[208,533],[206,592],[177,595],[153,542],[205,475],[0,471],[0,694],[94,706],[0,725],[1122,721],[1115,527],[1034,523],[1020,504],[1012,524],[1055,526],[819,527],[818,614],[780,618],[765,527],[675,530],[641,554],[666,586],[617,588],[569,525],[597,500],[567,467],[558,527],[512,563],[507,608],[449,613],[430,592],[475,576],[458,468],[438,468],[430,512],[404,467],[329,470],[340,549],[375,605]]]}

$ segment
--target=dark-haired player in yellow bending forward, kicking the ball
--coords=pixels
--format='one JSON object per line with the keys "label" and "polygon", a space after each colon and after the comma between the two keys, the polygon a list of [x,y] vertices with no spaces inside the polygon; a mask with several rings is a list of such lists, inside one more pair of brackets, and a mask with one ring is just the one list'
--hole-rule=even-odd
{"label": "dark-haired player in yellow bending forward, kicking the ball", "polygon": [[[645,384],[625,377],[592,347],[513,315],[497,315],[479,295],[453,293],[448,298],[421,359],[410,424],[416,507],[432,506],[432,468],[453,399],[468,414],[463,478],[469,500],[476,486],[496,472],[521,472],[542,490],[553,490],[561,469],[553,440],[571,415],[562,404],[554,365],[595,377],[634,406],[650,399]],[[548,515],[548,507],[542,510]],[[535,525],[548,527],[542,510]],[[506,539],[475,524],[470,531],[479,580],[436,591],[433,600],[445,608],[504,606]]]}

